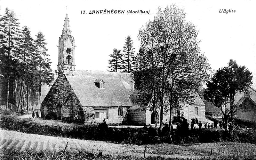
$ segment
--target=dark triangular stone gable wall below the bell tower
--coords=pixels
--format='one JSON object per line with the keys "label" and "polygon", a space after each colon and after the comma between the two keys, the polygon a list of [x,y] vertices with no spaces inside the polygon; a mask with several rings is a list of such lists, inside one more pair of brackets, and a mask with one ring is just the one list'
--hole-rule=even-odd
{"label": "dark triangular stone gable wall below the bell tower", "polygon": [[79,121],[84,118],[81,107],[66,76],[59,72],[58,78],[42,102],[42,117],[46,118],[47,114],[54,113],[52,115],[56,114],[56,117],[52,118],[60,119],[60,110],[63,109],[61,117],[64,121]]}

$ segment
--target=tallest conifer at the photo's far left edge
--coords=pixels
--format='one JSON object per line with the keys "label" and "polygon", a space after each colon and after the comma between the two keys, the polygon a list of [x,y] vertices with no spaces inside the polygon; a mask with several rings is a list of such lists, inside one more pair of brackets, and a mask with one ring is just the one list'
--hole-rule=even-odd
{"label": "tallest conifer at the photo's far left edge", "polygon": [[[4,16],[0,20],[0,54],[1,59],[4,61],[1,65],[2,73],[7,80],[7,98],[6,108],[9,107],[9,91],[12,89],[12,100],[15,101],[13,82],[19,75],[18,65],[18,41],[20,37],[20,29],[18,19],[15,18],[14,12],[8,8],[5,9]],[[3,68],[4,67],[4,68]],[[10,88],[10,84],[12,87]]]}

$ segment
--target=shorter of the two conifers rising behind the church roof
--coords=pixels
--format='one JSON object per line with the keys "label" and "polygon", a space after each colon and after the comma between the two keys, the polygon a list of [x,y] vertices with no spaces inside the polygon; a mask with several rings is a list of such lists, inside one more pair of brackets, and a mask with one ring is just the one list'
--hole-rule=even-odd
{"label": "shorter of the two conifers rising behind the church roof", "polygon": [[122,69],[122,54],[121,50],[117,50],[116,48],[113,49],[113,54],[109,55],[112,59],[108,60],[108,64],[110,65],[108,68],[110,68],[110,72],[117,72],[121,71]]}

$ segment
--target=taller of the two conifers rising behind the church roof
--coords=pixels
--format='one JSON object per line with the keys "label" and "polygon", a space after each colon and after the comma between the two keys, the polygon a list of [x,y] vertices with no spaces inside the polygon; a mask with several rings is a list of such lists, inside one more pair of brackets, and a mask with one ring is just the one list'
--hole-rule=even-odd
{"label": "taller of the two conifers rising behind the church roof", "polygon": [[122,59],[122,69],[123,72],[126,73],[131,73],[134,70],[134,64],[135,64],[135,56],[134,56],[134,50],[135,48],[133,48],[133,42],[132,42],[132,38],[130,36],[127,36],[127,38],[125,38],[125,44],[124,44],[124,55],[123,55],[123,59]]}

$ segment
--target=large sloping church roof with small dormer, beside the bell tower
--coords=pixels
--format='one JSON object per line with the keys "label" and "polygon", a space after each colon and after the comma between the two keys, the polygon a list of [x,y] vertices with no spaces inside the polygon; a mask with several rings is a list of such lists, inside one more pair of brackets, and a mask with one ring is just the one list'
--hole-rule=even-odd
{"label": "large sloping church roof with small dormer, beside the bell tower", "polygon": [[[83,107],[132,106],[131,73],[77,70],[75,76],[66,77]],[[104,88],[96,87],[98,80],[105,82]]]}

